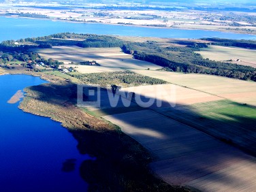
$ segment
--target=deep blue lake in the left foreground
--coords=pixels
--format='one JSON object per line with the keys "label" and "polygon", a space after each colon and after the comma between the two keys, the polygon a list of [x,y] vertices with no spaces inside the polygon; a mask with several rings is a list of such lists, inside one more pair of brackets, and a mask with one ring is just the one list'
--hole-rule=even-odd
{"label": "deep blue lake in the left foreground", "polygon": [[[18,90],[46,82],[26,75],[0,76],[0,191],[86,191],[77,142],[60,123],[22,112],[7,101]],[[63,163],[76,159],[74,171]]]}

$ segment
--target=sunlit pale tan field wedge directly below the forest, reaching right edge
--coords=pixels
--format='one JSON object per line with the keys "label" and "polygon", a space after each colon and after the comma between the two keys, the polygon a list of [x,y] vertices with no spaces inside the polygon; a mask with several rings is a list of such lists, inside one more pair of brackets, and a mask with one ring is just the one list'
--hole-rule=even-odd
{"label": "sunlit pale tan field wedge directly below the forest, reaching right edge", "polygon": [[159,78],[167,82],[187,86],[222,99],[256,106],[256,83],[204,74],[181,74],[169,71],[133,70],[138,74]]}

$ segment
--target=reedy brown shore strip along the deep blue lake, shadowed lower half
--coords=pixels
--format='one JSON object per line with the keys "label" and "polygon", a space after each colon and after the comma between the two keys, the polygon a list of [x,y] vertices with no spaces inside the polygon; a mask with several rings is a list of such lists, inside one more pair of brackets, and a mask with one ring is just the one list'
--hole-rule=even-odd
{"label": "reedy brown shore strip along the deep blue lake, shadowed lower half", "polygon": [[[116,125],[86,114],[74,106],[74,101],[71,101],[74,86],[71,82],[32,71],[6,72],[39,76],[48,81],[25,88],[25,97],[18,108],[23,112],[45,116],[62,123],[61,125],[66,127],[78,141],[80,153],[96,157],[96,161],[84,161],[80,167],[80,174],[89,183],[89,189],[90,186],[95,187],[95,185],[99,187],[98,189],[110,185],[113,190],[115,187],[121,187],[120,189],[155,191],[157,187],[162,189],[161,191],[186,191],[184,187],[170,186],[155,176],[148,168],[148,163],[152,162],[154,157],[141,144],[121,132]],[[64,99],[57,101],[60,95]],[[71,118],[68,118],[70,116]],[[74,116],[78,118],[75,119]],[[97,167],[101,167],[99,172],[95,172]],[[135,174],[138,170],[140,174]],[[138,178],[130,178],[131,172],[134,172],[132,174],[137,175]],[[121,174],[118,180],[115,180],[116,174]],[[102,177],[103,179],[100,179]]]}

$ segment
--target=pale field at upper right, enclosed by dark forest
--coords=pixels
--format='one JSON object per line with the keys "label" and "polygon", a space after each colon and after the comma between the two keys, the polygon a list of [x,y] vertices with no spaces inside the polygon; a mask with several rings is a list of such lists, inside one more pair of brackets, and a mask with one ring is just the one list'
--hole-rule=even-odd
{"label": "pale field at upper right, enclosed by dark forest", "polygon": [[[208,46],[208,48],[202,48],[201,51],[197,51],[205,59],[215,61],[228,61],[229,63],[236,63],[238,65],[249,65],[256,67],[256,50],[246,48],[234,48],[225,46]],[[239,61],[237,61],[239,59]]]}

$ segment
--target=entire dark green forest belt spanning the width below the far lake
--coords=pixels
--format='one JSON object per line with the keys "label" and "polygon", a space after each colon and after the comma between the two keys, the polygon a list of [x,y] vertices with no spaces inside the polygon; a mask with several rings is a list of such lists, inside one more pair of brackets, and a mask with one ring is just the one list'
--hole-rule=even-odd
{"label": "entire dark green forest belt spanning the width below the far lake", "polygon": [[[194,41],[170,41],[168,46],[162,46],[159,42],[129,42],[111,35],[93,35],[77,33],[58,33],[44,37],[33,37],[19,40],[9,40],[0,44],[0,54],[5,54],[7,59],[20,59],[22,54],[35,54],[31,48],[51,48],[52,46],[80,46],[82,48],[113,48],[120,47],[123,52],[132,54],[135,59],[149,61],[163,67],[166,71],[183,73],[211,74],[238,78],[242,80],[256,81],[256,69],[250,66],[223,63],[204,59],[195,53],[200,48],[206,48],[209,44],[221,46],[238,46],[242,48],[255,48],[253,40],[233,40],[208,38],[206,43]],[[180,44],[182,46],[176,46]],[[12,57],[8,57],[12,55]],[[3,57],[1,58],[3,60]],[[31,57],[29,59],[33,60]],[[3,62],[3,61],[0,61]],[[45,61],[46,62],[46,61]]]}

